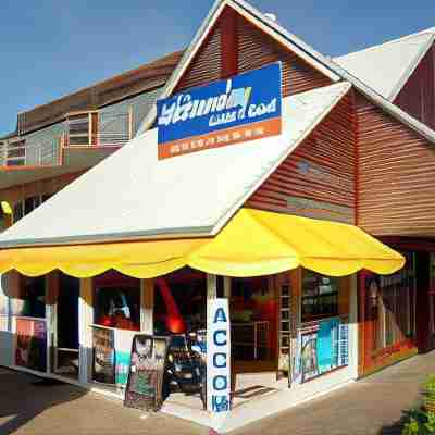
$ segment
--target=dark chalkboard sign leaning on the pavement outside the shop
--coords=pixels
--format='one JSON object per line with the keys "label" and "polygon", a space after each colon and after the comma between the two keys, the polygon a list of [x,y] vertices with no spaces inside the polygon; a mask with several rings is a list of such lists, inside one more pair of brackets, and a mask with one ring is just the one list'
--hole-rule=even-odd
{"label": "dark chalkboard sign leaning on the pavement outside the shop", "polygon": [[157,411],[163,402],[162,386],[169,338],[137,334],[133,338],[124,406]]}

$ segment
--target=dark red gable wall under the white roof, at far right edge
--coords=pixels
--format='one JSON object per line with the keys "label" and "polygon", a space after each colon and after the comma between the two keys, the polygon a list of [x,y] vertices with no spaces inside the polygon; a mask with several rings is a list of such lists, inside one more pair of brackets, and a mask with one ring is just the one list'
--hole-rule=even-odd
{"label": "dark red gable wall under the white roof, at far right edge", "polygon": [[435,48],[432,47],[402,87],[395,104],[435,128]]}

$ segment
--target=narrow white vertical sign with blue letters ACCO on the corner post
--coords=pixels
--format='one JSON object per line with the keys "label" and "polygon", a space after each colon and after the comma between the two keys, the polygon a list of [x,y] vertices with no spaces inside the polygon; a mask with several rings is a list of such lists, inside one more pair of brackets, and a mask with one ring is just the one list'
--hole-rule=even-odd
{"label": "narrow white vertical sign with blue letters ACCO on the corner post", "polygon": [[231,336],[228,299],[207,303],[207,409],[226,412],[231,407]]}

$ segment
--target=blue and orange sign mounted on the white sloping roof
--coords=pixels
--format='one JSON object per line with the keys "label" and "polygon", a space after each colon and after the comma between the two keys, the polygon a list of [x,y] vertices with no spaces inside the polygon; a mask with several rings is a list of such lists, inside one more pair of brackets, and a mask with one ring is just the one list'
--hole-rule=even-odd
{"label": "blue and orange sign mounted on the white sloping roof", "polygon": [[159,160],[281,134],[281,63],[157,101]]}

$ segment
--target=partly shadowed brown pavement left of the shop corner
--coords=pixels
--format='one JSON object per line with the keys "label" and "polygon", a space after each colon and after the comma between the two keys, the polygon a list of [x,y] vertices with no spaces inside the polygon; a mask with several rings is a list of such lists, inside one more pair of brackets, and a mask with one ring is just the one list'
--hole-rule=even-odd
{"label": "partly shadowed brown pavement left of the shop corner", "polygon": [[204,427],[163,413],[141,417],[120,400],[0,368],[1,435],[209,434]]}

